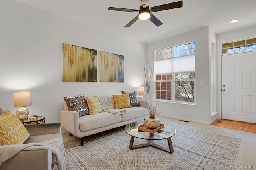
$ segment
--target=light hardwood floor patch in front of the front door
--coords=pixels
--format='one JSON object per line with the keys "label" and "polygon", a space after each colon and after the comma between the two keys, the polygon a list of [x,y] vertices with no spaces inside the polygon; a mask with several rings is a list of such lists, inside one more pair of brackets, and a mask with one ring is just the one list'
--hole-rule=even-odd
{"label": "light hardwood floor patch in front of the front door", "polygon": [[256,123],[216,119],[211,125],[256,133]]}

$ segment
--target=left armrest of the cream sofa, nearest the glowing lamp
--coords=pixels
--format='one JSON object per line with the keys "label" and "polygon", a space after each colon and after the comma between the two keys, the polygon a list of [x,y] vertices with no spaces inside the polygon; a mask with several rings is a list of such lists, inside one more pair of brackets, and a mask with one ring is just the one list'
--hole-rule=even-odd
{"label": "left armrest of the cream sofa, nearest the glowing lamp", "polygon": [[78,112],[60,110],[60,123],[65,130],[74,136],[78,138],[84,137],[80,134]]}

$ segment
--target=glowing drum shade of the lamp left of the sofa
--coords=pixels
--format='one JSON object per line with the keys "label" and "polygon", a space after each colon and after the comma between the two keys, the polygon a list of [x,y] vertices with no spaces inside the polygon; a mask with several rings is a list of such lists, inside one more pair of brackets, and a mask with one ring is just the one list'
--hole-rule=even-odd
{"label": "glowing drum shade of the lamp left of the sofa", "polygon": [[31,93],[30,91],[13,92],[14,107],[31,106]]}

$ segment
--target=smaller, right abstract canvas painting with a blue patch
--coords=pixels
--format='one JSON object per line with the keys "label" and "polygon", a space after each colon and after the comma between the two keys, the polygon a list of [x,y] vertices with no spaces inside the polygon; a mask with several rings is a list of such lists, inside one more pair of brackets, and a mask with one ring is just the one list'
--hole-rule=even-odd
{"label": "smaller, right abstract canvas painting with a blue patch", "polygon": [[124,56],[100,51],[100,82],[124,82]]}

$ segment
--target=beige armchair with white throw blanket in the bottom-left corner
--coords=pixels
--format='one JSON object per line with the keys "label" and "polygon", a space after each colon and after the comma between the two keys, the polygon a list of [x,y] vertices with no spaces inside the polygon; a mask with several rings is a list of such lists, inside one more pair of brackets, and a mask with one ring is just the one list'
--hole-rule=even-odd
{"label": "beige armchair with white throw blanket in the bottom-left corner", "polygon": [[[0,146],[0,170],[52,170],[57,162],[59,170],[65,169],[66,153],[61,124],[24,126],[30,137],[23,144]],[[21,151],[17,151],[17,148]],[[15,153],[10,156],[10,152]]]}

